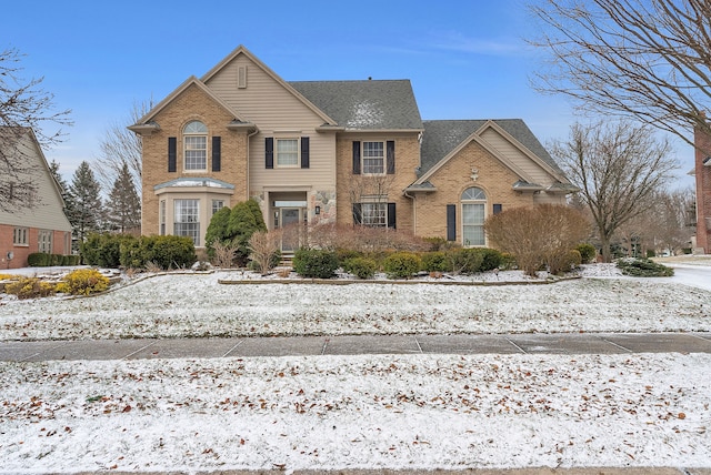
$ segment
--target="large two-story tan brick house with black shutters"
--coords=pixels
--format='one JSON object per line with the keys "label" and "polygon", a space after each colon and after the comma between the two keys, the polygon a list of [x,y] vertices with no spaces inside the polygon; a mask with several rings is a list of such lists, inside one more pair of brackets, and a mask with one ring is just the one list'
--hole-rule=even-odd
{"label": "large two-story tan brick house with black shutters", "polygon": [[287,82],[243,47],[129,129],[143,143],[142,233],[198,246],[217,210],[249,198],[269,229],[485,245],[488,215],[575,190],[521,120],[423,122],[408,80]]}

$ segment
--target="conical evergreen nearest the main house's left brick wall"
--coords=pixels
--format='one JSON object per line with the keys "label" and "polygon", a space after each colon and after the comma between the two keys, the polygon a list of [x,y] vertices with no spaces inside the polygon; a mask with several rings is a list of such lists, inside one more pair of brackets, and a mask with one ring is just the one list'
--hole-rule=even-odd
{"label": "conical evergreen nearest the main house's left brick wall", "polygon": [[129,165],[123,162],[107,202],[107,224],[124,233],[141,225],[141,200],[138,198]]}

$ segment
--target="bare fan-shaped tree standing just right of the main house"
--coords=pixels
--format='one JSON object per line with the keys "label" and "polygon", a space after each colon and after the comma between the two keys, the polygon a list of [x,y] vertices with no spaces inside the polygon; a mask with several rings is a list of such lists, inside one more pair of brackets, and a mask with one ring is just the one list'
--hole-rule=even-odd
{"label": "bare fan-shaped tree standing just right of the main house", "polygon": [[630,122],[574,124],[567,142],[554,142],[551,154],[592,213],[604,262],[610,262],[614,232],[644,213],[653,193],[664,189],[678,166],[670,144],[649,127]]}

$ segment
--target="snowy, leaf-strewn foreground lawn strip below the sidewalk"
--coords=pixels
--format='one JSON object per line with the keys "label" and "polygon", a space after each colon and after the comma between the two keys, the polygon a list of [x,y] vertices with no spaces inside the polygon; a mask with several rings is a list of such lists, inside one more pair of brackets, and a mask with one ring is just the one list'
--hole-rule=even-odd
{"label": "snowy, leaf-strewn foreground lawn strip below the sidewalk", "polygon": [[0,473],[684,466],[707,354],[0,365]]}

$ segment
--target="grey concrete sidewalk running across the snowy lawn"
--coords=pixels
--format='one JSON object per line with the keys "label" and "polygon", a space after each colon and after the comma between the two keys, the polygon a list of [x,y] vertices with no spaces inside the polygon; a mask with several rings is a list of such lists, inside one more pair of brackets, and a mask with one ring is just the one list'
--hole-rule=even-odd
{"label": "grey concrete sidewalk running across the snowy lawn", "polygon": [[427,353],[711,353],[711,333],[524,333],[0,342],[0,361],[13,362]]}

